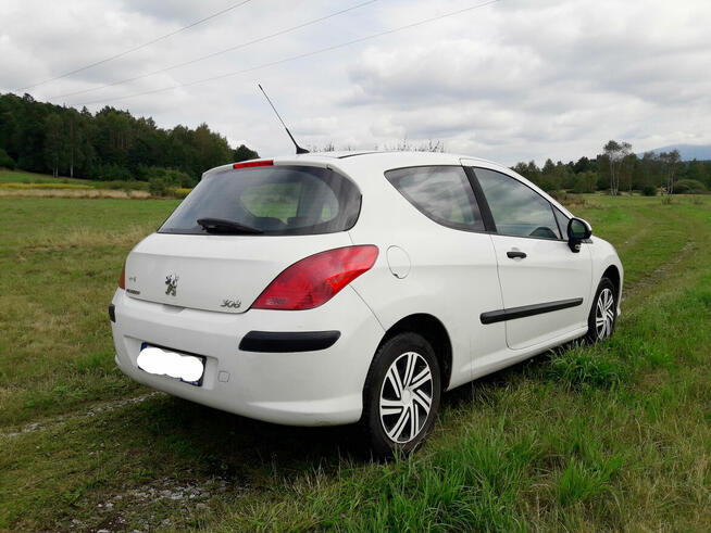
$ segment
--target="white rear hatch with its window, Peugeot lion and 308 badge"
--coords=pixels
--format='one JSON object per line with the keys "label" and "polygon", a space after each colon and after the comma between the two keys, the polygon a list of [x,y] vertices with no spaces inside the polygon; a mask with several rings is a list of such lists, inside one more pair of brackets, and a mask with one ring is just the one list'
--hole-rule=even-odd
{"label": "white rear hatch with its window, Peugeot lion and 308 badge", "polygon": [[361,195],[321,167],[269,164],[208,175],[126,259],[135,299],[244,313],[284,269],[348,246]]}

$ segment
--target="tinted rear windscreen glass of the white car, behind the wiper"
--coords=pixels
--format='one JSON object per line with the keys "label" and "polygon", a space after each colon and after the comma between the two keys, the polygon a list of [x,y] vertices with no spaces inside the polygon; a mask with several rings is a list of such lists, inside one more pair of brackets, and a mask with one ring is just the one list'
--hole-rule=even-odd
{"label": "tinted rear windscreen glass of the white car, behind the wiper", "polygon": [[223,232],[214,228],[210,231],[198,224],[202,219],[217,219],[253,229],[259,234],[334,233],[356,224],[360,205],[361,193],[356,185],[327,168],[227,169],[200,181],[159,232]]}

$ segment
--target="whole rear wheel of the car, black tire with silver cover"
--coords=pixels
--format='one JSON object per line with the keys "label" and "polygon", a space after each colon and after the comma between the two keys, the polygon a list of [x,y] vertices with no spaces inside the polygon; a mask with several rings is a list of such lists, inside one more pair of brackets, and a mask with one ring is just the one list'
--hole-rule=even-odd
{"label": "whole rear wheel of the car, black tire with silver cover", "polygon": [[439,364],[416,333],[399,333],[378,347],[363,389],[361,424],[376,458],[408,455],[432,431],[441,394]]}

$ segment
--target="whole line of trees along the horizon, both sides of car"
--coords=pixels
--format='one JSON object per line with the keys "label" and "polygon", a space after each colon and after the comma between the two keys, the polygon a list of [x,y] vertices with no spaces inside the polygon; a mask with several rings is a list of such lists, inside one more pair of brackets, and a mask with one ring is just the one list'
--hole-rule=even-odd
{"label": "whole line of trees along the horizon, both sides of car", "polygon": [[[333,150],[333,145],[330,145]],[[440,142],[420,148],[407,141],[392,150],[442,151]],[[326,149],[327,150],[327,149]],[[195,129],[159,128],[151,117],[105,106],[96,114],[86,107],[38,102],[29,94],[0,94],[0,167],[99,180],[163,181],[192,187],[208,168],[259,157],[207,124]],[[611,194],[641,191],[656,194],[711,190],[711,162],[682,162],[677,151],[638,156],[632,144],[610,140],[595,157],[569,163],[547,160],[512,167],[547,191]]]}

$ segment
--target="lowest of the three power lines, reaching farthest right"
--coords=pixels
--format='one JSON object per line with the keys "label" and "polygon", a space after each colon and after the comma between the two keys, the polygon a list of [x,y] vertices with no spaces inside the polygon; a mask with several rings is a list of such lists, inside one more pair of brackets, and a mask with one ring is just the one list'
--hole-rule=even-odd
{"label": "lowest of the three power lines, reaching farthest right", "polygon": [[489,0],[489,1],[484,2],[484,3],[479,3],[479,4],[476,4],[476,5],[471,5],[469,8],[464,8],[464,9],[457,10],[457,11],[450,11],[450,12],[441,14],[441,15],[425,18],[423,21],[415,22],[415,23],[412,23],[412,24],[407,24],[404,26],[400,26],[400,27],[397,27],[397,28],[386,29],[385,31],[379,31],[377,34],[372,34],[372,35],[369,35],[369,36],[365,36],[365,37],[360,37],[358,39],[341,42],[339,45],[334,45],[334,46],[330,46],[330,47],[321,48],[319,50],[313,50],[311,52],[305,52],[305,53],[301,53],[301,54],[298,54],[298,55],[292,55],[290,58],[286,58],[286,59],[283,59],[283,60],[272,61],[270,63],[264,63],[264,64],[261,64],[261,65],[258,65],[258,66],[252,66],[252,67],[249,67],[249,68],[241,69],[241,71],[234,71],[234,72],[230,72],[230,73],[222,74],[220,76],[212,76],[212,77],[209,77],[209,78],[202,78],[202,79],[198,79],[198,80],[195,80],[195,81],[189,81],[189,83],[186,83],[186,84],[177,84],[177,85],[173,85],[173,86],[170,86],[170,87],[162,87],[161,89],[153,89],[153,90],[150,90],[150,91],[136,92],[134,94],[127,94],[125,97],[117,97],[117,98],[111,98],[111,99],[107,99],[107,100],[95,100],[95,101],[91,101],[91,102],[84,102],[80,105],[92,105],[92,104],[97,104],[97,103],[116,102],[118,100],[128,100],[130,98],[144,97],[144,96],[147,96],[147,94],[154,94],[157,92],[164,92],[164,91],[170,91],[170,90],[174,90],[174,89],[179,89],[179,88],[183,88],[183,87],[190,87],[190,86],[198,85],[198,84],[204,84],[207,81],[214,81],[216,79],[228,78],[230,76],[237,76],[239,74],[246,74],[246,73],[259,71],[259,69],[262,69],[262,68],[267,68],[270,66],[280,65],[283,63],[288,63],[288,62],[291,62],[291,61],[296,61],[296,60],[300,60],[300,59],[304,59],[304,58],[310,58],[312,55],[317,55],[320,53],[329,52],[332,50],[337,50],[339,48],[350,47],[352,45],[358,45],[360,42],[363,42],[363,41],[366,41],[366,40],[370,40],[370,39],[375,39],[377,37],[383,37],[385,35],[395,34],[397,31],[402,31],[402,30],[406,30],[406,29],[411,29],[411,28],[414,28],[414,27],[417,27],[417,26],[422,26],[423,24],[428,24],[431,22],[440,21],[442,18],[459,15],[461,13],[465,13],[467,11],[473,11],[473,10],[476,10],[476,9],[479,9],[479,8],[485,8],[487,5],[490,5],[492,3],[497,3],[500,0]]}

